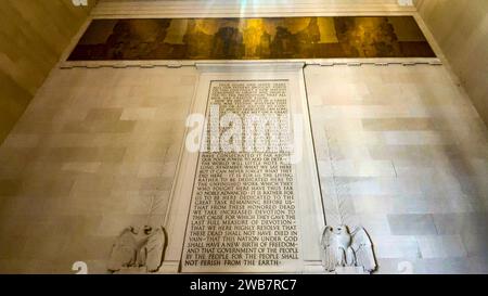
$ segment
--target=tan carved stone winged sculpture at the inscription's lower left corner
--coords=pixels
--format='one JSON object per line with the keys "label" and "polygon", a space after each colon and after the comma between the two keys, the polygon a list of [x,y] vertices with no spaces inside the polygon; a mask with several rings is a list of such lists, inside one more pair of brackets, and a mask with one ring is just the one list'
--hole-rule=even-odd
{"label": "tan carved stone winged sculpture at the inscription's lower left corner", "polygon": [[144,226],[141,230],[126,228],[115,241],[108,261],[108,271],[145,267],[156,272],[163,261],[166,245],[164,228]]}

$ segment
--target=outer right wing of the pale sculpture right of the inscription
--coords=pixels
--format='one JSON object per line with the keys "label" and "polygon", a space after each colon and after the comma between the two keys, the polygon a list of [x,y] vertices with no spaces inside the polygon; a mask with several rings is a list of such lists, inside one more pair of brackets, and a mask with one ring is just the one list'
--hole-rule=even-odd
{"label": "outer right wing of the pale sculpture right of the inscription", "polygon": [[358,227],[351,233],[351,248],[356,255],[356,265],[363,267],[368,272],[376,269],[376,260],[373,253],[373,244],[362,227]]}

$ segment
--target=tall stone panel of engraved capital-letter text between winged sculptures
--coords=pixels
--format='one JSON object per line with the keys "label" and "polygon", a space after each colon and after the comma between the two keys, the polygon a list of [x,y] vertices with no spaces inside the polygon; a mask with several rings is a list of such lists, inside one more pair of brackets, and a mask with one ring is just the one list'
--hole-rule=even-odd
{"label": "tall stone panel of engraved capital-letter text between winged sculptures", "polygon": [[[294,271],[301,258],[294,167],[283,149],[288,81],[214,80],[208,95],[182,271]],[[222,127],[224,116],[239,117],[241,127]],[[266,132],[252,133],[253,116],[270,119]]]}

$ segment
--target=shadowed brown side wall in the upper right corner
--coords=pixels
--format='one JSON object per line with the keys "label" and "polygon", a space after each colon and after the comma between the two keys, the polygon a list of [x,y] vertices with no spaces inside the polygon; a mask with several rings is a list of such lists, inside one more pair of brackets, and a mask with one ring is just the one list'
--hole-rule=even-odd
{"label": "shadowed brown side wall in the upper right corner", "polygon": [[419,13],[488,124],[488,1],[419,0]]}

